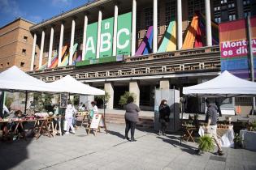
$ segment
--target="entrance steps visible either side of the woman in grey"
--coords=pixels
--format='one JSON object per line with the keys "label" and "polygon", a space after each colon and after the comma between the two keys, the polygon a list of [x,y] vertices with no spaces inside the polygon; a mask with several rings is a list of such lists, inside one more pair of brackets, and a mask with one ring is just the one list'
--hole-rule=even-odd
{"label": "entrance steps visible either side of the woman in grey", "polygon": [[[105,117],[106,123],[125,124],[123,114],[107,113]],[[154,117],[140,117],[137,122],[137,127],[154,129]]]}

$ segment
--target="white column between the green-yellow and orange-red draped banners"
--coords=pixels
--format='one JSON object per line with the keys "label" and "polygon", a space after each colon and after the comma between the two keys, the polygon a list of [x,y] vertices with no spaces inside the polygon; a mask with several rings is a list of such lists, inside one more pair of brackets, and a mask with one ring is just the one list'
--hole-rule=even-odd
{"label": "white column between the green-yellow and orange-red draped banners", "polygon": [[177,48],[182,48],[182,4],[181,0],[177,0]]}

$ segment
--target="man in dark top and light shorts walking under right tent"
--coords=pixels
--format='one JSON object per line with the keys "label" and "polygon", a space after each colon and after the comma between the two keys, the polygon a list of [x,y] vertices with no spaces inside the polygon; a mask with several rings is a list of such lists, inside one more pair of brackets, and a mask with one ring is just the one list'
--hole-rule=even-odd
{"label": "man in dark top and light shorts walking under right tent", "polygon": [[206,100],[206,106],[207,106],[207,111],[206,111],[206,133],[210,134],[210,136],[215,140],[218,151],[218,155],[223,155],[222,148],[220,147],[219,140],[217,138],[217,120],[218,120],[218,115],[217,115],[217,106],[215,104],[210,104],[209,100]]}

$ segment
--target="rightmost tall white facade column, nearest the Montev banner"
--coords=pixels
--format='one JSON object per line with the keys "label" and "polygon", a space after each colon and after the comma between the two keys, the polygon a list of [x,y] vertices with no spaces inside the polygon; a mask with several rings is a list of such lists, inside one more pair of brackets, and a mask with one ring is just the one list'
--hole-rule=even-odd
{"label": "rightmost tall white facade column, nearest the Montev banner", "polygon": [[211,37],[211,21],[210,21],[210,0],[205,0],[206,3],[206,45],[212,45]]}

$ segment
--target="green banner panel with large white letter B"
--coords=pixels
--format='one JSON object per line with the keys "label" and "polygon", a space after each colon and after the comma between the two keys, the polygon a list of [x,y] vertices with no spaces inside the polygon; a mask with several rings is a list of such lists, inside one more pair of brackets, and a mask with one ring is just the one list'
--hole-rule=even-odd
{"label": "green banner panel with large white letter B", "polygon": [[112,56],[114,18],[102,20],[100,57]]}

